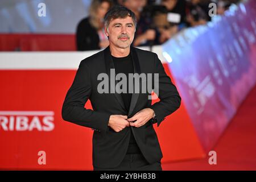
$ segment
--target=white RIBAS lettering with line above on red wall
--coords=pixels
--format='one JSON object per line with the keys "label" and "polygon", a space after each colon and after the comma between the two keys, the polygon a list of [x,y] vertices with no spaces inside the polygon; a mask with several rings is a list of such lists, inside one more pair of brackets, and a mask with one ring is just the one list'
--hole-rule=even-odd
{"label": "white RIBAS lettering with line above on red wall", "polygon": [[0,111],[0,130],[52,131],[53,111]]}

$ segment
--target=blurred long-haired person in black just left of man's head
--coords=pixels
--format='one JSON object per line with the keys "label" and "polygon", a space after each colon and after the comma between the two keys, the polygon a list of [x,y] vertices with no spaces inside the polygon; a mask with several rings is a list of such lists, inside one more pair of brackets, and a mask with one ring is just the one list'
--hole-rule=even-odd
{"label": "blurred long-haired person in black just left of man's head", "polygon": [[89,16],[82,19],[76,30],[77,51],[102,49],[109,46],[108,37],[104,31],[104,16],[112,7],[110,0],[93,0]]}

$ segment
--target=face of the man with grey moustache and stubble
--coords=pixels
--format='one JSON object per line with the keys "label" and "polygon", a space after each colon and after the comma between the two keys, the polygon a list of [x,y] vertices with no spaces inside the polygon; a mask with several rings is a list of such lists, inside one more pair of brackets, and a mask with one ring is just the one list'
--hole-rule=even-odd
{"label": "face of the man with grey moustache and stubble", "polygon": [[110,46],[127,48],[134,39],[135,25],[133,19],[130,16],[113,19],[109,23],[108,30],[105,27],[105,33],[109,36]]}

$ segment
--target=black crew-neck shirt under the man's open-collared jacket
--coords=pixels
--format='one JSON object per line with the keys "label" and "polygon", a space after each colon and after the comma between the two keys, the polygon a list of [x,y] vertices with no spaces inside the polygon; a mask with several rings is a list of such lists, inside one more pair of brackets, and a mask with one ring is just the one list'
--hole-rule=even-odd
{"label": "black crew-neck shirt under the man's open-collared jacket", "polygon": [[[129,107],[130,107],[130,102],[131,102],[131,93],[129,93],[129,87],[128,87],[128,74],[129,73],[134,73],[133,71],[133,60],[131,58],[131,53],[128,56],[125,57],[114,57],[112,56],[113,61],[114,61],[114,67],[115,67],[115,75],[118,73],[124,73],[127,78],[127,92],[126,93],[121,93],[123,102],[126,107],[126,112],[128,115]],[[122,87],[121,87],[122,89]],[[130,137],[130,142],[129,142],[129,147],[127,150],[127,154],[138,154],[141,153],[141,150],[139,150],[138,144],[135,141],[133,132],[131,131],[131,137]]]}

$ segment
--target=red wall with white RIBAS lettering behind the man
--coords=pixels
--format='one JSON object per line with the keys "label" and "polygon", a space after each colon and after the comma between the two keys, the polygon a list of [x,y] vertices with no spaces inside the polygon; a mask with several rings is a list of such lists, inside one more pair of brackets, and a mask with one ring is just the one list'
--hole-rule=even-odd
{"label": "red wall with white RIBAS lettering behind the man", "polygon": [[[31,59],[29,54],[21,57],[26,56]],[[22,61],[16,62],[16,67],[18,64]],[[75,61],[74,65],[78,64]],[[76,69],[42,69],[44,65],[0,71],[0,84],[5,85],[0,94],[0,168],[92,169],[93,131],[61,118],[61,106]],[[164,68],[170,75],[167,64]],[[92,108],[90,102],[85,107]],[[204,156],[184,105],[155,129],[162,162]],[[46,165],[38,163],[40,151],[46,154]]]}

